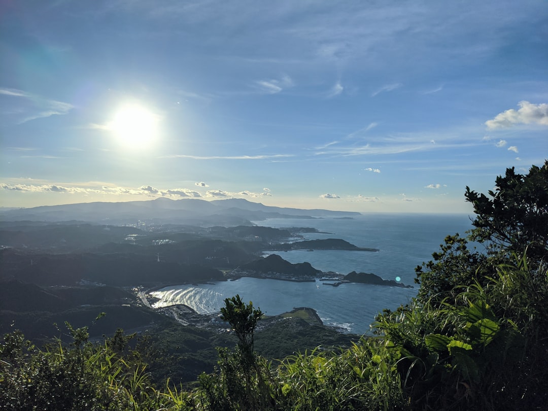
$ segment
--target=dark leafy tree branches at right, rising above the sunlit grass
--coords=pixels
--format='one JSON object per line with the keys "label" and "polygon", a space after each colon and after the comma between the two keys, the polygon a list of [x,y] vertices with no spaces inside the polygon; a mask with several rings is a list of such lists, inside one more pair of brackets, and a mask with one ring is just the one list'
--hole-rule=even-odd
{"label": "dark leafy tree branches at right, rising above the sunlit grass", "polygon": [[[416,267],[418,300],[454,301],[459,286],[486,286],[498,267],[524,255],[533,272],[546,262],[548,249],[548,161],[533,165],[527,175],[506,169],[488,196],[466,187],[465,198],[474,208],[475,227],[467,237],[447,236],[433,260]],[[471,244],[475,244],[471,247]],[[479,248],[479,250],[478,250]]]}

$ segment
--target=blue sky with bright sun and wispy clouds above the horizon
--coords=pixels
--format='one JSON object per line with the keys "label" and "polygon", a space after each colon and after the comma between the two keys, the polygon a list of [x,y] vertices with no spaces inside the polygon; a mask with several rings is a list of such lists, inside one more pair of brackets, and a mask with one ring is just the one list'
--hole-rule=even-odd
{"label": "blue sky with bright sun and wispy clouds above the horizon", "polygon": [[547,136],[545,0],[0,4],[4,207],[469,213]]}

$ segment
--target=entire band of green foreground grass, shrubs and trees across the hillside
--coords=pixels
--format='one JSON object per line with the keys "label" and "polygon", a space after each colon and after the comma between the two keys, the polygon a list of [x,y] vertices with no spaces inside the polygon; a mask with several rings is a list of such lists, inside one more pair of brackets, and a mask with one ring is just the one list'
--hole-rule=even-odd
{"label": "entire band of green foreground grass, shrubs and trees across the hillside", "polygon": [[547,176],[548,162],[528,175],[507,170],[492,198],[467,189],[469,238],[447,237],[417,269],[418,298],[379,315],[374,336],[349,348],[269,362],[254,352],[261,311],[235,296],[222,318],[236,347],[219,349],[213,372],[183,388],[155,385],[146,364],[157,354],[130,348],[121,332],[92,344],[68,326],[72,345],[44,350],[15,332],[0,346],[0,409],[545,409]]}

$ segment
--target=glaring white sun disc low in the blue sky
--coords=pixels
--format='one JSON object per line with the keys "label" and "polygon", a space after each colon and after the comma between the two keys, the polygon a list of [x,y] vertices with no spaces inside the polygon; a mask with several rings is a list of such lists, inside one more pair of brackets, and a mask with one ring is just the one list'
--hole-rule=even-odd
{"label": "glaring white sun disc low in the blue sky", "polygon": [[158,137],[159,116],[137,103],[121,106],[110,129],[118,142],[127,147],[150,147]]}

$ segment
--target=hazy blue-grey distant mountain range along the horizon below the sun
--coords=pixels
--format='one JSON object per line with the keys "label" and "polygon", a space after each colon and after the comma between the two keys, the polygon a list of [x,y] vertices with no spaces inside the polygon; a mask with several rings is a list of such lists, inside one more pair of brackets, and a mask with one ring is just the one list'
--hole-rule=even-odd
{"label": "hazy blue-grey distant mountain range along the horizon below the sun", "polygon": [[298,209],[265,206],[242,198],[214,201],[202,199],[172,200],[161,197],[149,201],[94,202],[40,206],[20,209],[0,209],[2,221],[87,221],[101,224],[134,224],[150,221],[177,224],[249,225],[250,221],[269,218],[312,219],[321,217],[346,217],[360,215],[356,212],[341,212],[323,209]]}

